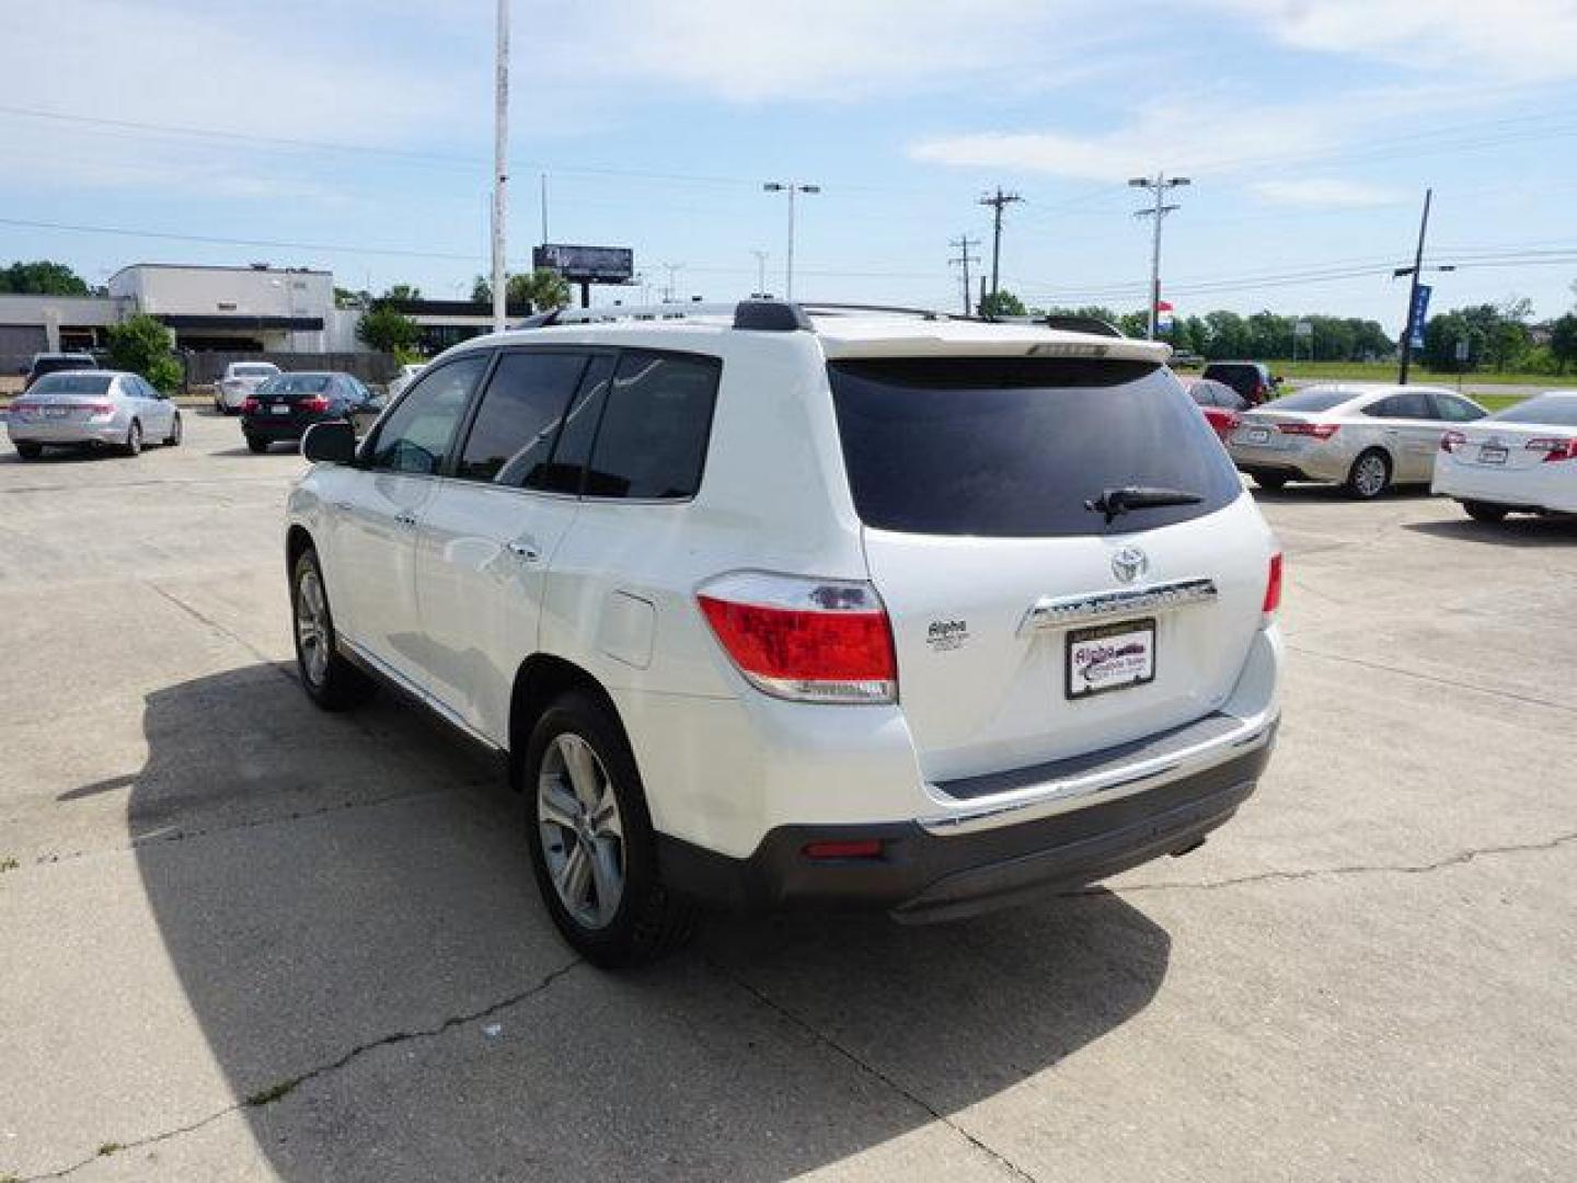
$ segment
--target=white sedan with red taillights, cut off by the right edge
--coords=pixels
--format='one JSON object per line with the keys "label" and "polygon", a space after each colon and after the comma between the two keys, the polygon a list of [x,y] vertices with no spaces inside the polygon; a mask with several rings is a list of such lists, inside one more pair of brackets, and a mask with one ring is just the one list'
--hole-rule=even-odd
{"label": "white sedan with red taillights, cut off by the right edge", "polygon": [[1446,432],[1432,489],[1481,522],[1577,513],[1577,390],[1552,390]]}

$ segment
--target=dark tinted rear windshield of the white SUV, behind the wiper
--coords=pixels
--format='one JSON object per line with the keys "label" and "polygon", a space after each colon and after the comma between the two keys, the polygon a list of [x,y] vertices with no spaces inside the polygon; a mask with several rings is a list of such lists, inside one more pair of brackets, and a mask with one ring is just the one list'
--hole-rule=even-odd
{"label": "dark tinted rear windshield of the white SUV, behind the wiper", "polygon": [[[1161,366],[1074,358],[880,358],[828,366],[855,509],[923,535],[1060,538],[1172,525],[1243,486]],[[1085,502],[1159,486],[1197,505],[1107,524]]]}

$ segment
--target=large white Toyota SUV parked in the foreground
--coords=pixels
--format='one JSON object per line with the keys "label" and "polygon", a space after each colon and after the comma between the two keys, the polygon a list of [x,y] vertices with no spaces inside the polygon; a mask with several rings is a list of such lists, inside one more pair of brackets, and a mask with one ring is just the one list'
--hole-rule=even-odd
{"label": "large white Toyota SUV parked in the foreground", "polygon": [[506,760],[602,965],[1183,853],[1269,757],[1281,555],[1165,355],[781,301],[468,341],[303,443],[303,685]]}

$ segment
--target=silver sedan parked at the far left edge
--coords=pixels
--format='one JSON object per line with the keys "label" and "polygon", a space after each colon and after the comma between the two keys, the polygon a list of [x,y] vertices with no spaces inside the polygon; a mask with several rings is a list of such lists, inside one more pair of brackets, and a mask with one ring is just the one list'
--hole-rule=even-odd
{"label": "silver sedan parked at the far left edge", "polygon": [[137,374],[74,369],[28,386],[11,404],[6,432],[24,461],[38,459],[50,445],[93,445],[136,456],[145,442],[180,443],[181,413]]}

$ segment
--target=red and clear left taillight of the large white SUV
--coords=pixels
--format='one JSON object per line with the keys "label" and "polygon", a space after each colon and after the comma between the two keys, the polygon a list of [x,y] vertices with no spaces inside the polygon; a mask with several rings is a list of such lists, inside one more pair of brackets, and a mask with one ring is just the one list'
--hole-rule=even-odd
{"label": "red and clear left taillight of the large white SUV", "polygon": [[757,689],[798,702],[897,702],[893,633],[869,584],[741,571],[695,599]]}

